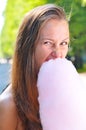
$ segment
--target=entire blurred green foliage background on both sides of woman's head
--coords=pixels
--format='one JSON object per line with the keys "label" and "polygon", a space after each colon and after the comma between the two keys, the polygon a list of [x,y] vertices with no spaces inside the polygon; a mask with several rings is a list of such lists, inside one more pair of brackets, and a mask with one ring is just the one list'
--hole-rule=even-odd
{"label": "entire blurred green foliage background on both sides of woman's head", "polygon": [[7,0],[0,32],[0,58],[10,59],[19,25],[26,12],[46,3],[62,6],[69,18],[70,48],[68,58],[79,72],[86,71],[86,0]]}

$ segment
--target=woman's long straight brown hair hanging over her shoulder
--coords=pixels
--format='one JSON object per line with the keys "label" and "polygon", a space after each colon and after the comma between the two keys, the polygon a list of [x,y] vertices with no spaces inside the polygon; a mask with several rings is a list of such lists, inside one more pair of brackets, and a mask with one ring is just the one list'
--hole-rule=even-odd
{"label": "woman's long straight brown hair hanging over her shoulder", "polygon": [[25,15],[16,39],[12,89],[18,116],[25,130],[42,130],[34,52],[41,26],[52,18],[66,20],[64,10],[53,4],[36,7]]}

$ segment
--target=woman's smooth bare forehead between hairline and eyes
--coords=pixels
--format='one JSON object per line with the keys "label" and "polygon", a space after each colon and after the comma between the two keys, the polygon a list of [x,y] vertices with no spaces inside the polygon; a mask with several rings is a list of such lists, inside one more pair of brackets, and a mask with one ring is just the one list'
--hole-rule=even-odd
{"label": "woman's smooth bare forehead between hairline and eyes", "polygon": [[40,29],[39,39],[69,37],[69,26],[66,20],[48,20]]}

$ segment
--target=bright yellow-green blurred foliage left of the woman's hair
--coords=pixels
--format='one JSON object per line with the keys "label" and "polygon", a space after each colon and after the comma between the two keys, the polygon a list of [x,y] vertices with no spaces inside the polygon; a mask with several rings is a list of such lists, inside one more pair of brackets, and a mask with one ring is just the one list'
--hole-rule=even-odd
{"label": "bright yellow-green blurred foliage left of the woman's hair", "polygon": [[3,14],[5,22],[1,32],[1,51],[4,57],[13,55],[17,30],[24,14],[35,6],[45,3],[46,0],[7,0],[6,10]]}

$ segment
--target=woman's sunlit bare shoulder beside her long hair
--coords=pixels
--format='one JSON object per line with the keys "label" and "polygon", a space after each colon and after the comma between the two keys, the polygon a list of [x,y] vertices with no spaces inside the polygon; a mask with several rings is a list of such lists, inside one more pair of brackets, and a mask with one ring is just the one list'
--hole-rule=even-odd
{"label": "woman's sunlit bare shoulder beside her long hair", "polygon": [[16,130],[17,112],[11,87],[0,95],[0,130]]}

